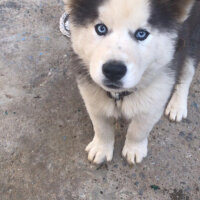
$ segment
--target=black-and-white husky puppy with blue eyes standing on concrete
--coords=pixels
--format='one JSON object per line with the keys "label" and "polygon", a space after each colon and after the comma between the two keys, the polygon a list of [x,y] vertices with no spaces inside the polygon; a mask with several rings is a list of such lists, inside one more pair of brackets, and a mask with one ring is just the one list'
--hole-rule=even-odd
{"label": "black-and-white husky puppy with blue eyes standing on concrete", "polygon": [[[130,121],[122,155],[147,156],[148,135],[163,112],[187,117],[200,56],[200,2],[66,0],[77,83],[94,127],[86,147],[96,164],[111,161],[111,118]],[[194,6],[195,5],[195,6]]]}

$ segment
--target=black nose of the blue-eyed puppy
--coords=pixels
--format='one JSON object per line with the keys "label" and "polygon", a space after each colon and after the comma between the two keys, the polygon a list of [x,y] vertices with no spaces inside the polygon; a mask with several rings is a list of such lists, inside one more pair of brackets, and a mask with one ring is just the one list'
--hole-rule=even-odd
{"label": "black nose of the blue-eyed puppy", "polygon": [[126,71],[126,66],[120,61],[109,61],[103,65],[103,74],[114,82],[122,79]]}

